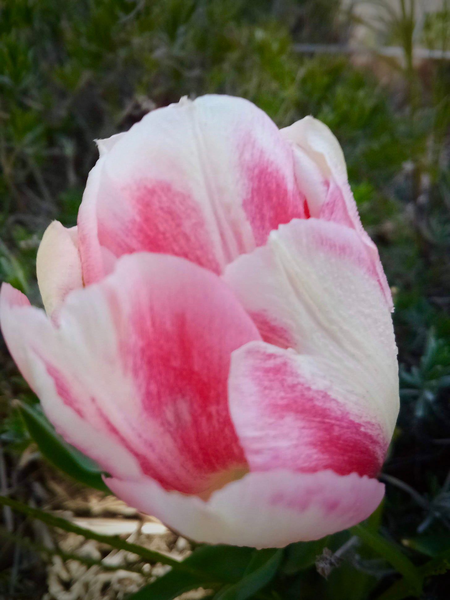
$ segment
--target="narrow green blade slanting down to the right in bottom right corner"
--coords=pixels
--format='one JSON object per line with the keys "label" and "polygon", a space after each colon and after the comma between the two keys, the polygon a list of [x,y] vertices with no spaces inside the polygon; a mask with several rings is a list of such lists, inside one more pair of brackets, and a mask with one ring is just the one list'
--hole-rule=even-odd
{"label": "narrow green blade slanting down to the right in bottom right corner", "polygon": [[408,582],[410,589],[417,595],[422,591],[423,577],[419,569],[405,556],[396,545],[383,538],[379,533],[370,531],[363,524],[355,525],[350,531],[361,541],[388,561]]}

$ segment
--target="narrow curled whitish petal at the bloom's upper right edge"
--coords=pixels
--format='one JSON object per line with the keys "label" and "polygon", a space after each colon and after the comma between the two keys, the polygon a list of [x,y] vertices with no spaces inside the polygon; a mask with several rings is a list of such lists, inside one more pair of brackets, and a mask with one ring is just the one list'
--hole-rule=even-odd
{"label": "narrow curled whitish petal at the bloom's upper right edge", "polygon": [[338,140],[324,123],[312,116],[306,116],[282,129],[281,134],[292,143],[298,186],[305,194],[311,217],[335,221],[358,232],[392,310],[391,290],[376,245],[359,219]]}

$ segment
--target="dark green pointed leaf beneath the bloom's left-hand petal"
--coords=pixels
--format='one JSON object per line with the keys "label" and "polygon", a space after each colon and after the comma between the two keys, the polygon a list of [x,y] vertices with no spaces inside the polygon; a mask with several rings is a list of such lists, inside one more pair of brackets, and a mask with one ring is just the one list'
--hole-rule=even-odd
{"label": "dark green pointed leaf beneath the bloom's left-hand petal", "polygon": [[50,463],[82,484],[110,493],[97,464],[65,442],[40,410],[22,402],[19,411],[28,433]]}

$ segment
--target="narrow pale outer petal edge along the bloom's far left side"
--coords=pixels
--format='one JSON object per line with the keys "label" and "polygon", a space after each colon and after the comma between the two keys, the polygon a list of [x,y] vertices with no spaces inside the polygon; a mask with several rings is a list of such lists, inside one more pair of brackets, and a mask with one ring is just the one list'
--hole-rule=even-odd
{"label": "narrow pale outer petal edge along the bloom's far left side", "polygon": [[[43,310],[32,307],[25,295],[5,283],[0,292],[0,325],[11,356],[31,389],[41,398],[56,431],[107,472],[117,477],[142,475],[134,455],[115,436],[92,427],[80,415],[76,401],[67,401],[72,382],[70,375],[63,373],[67,360],[64,340]],[[43,349],[46,358],[43,358]],[[53,363],[49,357],[54,359]]]}

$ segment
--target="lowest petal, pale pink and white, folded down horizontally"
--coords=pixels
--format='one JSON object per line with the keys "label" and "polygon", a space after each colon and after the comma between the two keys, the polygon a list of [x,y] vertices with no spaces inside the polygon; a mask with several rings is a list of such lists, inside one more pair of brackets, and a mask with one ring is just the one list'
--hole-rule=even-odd
{"label": "lowest petal, pale pink and white, folded down horizontally", "polygon": [[139,511],[199,542],[256,548],[322,538],[367,518],[384,485],[356,473],[248,473],[208,502],[163,490],[155,481],[107,479],[111,490]]}

